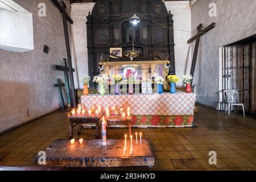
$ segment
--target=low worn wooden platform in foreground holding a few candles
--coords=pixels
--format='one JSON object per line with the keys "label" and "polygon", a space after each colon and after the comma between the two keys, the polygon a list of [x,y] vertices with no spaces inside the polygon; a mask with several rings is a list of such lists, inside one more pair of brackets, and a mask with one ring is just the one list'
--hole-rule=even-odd
{"label": "low worn wooden platform in foreground holding a few candles", "polygon": [[[130,139],[127,139],[126,154],[123,154],[124,140],[108,139],[105,147],[101,143],[101,139],[84,140],[83,144],[76,141],[73,145],[69,140],[55,140],[45,150],[46,163],[83,168],[154,166],[155,158],[149,140],[142,140],[142,144],[138,145],[136,140],[133,140],[132,155],[130,155]],[[39,156],[35,156],[35,164],[38,164],[38,158]]]}

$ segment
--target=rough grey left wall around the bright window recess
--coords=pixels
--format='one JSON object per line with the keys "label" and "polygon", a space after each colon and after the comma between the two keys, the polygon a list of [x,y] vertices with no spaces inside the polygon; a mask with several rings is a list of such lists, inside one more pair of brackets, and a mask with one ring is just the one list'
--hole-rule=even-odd
{"label": "rough grey left wall around the bright window recess", "polygon": [[[60,11],[49,0],[16,2],[32,13],[34,50],[0,50],[0,133],[61,107],[59,90],[53,84],[56,78],[64,81],[64,75],[52,69],[67,57]],[[46,4],[46,17],[38,16],[39,3]],[[44,44],[49,46],[48,54],[43,52]]]}

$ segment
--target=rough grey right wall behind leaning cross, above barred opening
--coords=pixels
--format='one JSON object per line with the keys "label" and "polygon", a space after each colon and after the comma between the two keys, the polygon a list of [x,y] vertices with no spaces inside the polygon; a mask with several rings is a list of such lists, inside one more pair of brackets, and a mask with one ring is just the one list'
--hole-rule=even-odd
{"label": "rough grey right wall behind leaning cross, above barred opening", "polygon": [[[209,4],[216,3],[217,16],[209,16]],[[256,34],[256,1],[255,0],[197,0],[192,6],[192,34],[196,27],[203,23],[207,27],[216,22],[216,27],[201,36],[199,55],[197,57],[195,80],[197,102],[218,107],[220,90],[219,48]],[[192,44],[192,51],[195,42]]]}

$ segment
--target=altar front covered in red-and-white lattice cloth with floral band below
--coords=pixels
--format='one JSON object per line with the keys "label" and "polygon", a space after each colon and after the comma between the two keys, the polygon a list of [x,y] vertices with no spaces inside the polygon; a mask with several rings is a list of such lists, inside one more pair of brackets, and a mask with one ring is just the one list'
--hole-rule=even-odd
{"label": "altar front covered in red-and-white lattice cloth with floral band below", "polygon": [[127,107],[133,114],[135,127],[192,127],[196,94],[90,94],[81,96],[83,107]]}

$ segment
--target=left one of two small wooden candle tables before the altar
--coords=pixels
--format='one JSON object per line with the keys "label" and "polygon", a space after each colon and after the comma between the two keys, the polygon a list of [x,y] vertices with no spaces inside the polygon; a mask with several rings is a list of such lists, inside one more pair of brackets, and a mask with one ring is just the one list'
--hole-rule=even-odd
{"label": "left one of two small wooden candle tables before the altar", "polygon": [[[77,134],[81,135],[82,123],[95,123],[96,125],[96,138],[100,138],[100,119],[104,113],[99,113],[96,115],[92,113],[89,115],[88,113],[82,115],[71,115],[69,114],[69,139],[73,138],[73,128],[77,126]],[[73,125],[75,124],[75,125]]]}

